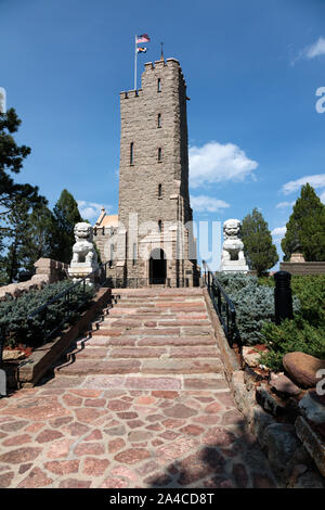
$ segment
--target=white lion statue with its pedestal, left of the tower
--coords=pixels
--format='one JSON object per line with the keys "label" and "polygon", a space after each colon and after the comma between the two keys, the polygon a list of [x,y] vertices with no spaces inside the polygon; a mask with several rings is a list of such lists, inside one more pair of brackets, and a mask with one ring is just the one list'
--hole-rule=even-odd
{"label": "white lion statue with its pedestal, left of the tower", "polygon": [[[75,226],[76,243],[73,246],[73,259],[68,268],[69,277],[74,281],[87,277],[99,268],[98,254],[92,242],[92,227],[80,222]],[[86,280],[88,284],[94,282],[94,277]]]}

